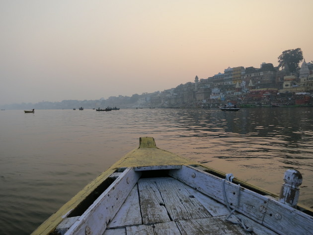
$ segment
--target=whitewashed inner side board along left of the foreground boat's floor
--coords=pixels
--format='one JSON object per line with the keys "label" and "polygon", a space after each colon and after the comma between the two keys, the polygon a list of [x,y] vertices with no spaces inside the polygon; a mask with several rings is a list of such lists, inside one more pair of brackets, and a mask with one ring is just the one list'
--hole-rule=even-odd
{"label": "whitewashed inner side board along left of the foreground boat's floor", "polygon": [[127,168],[79,217],[66,235],[103,234],[140,175],[133,168]]}

